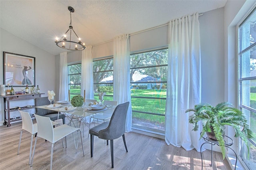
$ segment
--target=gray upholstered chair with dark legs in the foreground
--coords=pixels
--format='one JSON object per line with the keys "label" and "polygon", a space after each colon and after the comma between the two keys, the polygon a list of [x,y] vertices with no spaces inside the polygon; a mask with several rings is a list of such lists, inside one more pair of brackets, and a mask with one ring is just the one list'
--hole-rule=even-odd
{"label": "gray upholstered chair with dark legs in the foreground", "polygon": [[124,146],[126,152],[128,152],[124,138],[125,122],[128,107],[129,102],[117,105],[110,119],[110,122],[104,122],[100,125],[97,125],[96,127],[90,128],[89,131],[91,140],[91,157],[93,156],[94,136],[98,136],[101,139],[110,140],[112,168],[114,168],[113,140],[119,138],[120,136],[123,136]]}

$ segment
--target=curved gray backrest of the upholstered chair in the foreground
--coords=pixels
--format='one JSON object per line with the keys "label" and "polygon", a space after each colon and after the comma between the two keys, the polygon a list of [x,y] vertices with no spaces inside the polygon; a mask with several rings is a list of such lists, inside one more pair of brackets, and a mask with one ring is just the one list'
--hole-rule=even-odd
{"label": "curved gray backrest of the upholstered chair in the foreground", "polygon": [[126,102],[116,106],[108,127],[99,131],[99,138],[114,140],[124,134],[129,104]]}

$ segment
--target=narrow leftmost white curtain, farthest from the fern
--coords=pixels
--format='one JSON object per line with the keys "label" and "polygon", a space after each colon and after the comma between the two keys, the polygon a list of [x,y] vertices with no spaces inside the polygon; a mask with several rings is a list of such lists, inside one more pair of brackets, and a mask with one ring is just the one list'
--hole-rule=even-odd
{"label": "narrow leftmost white curtain, farthest from the fern", "polygon": [[59,101],[68,101],[68,57],[67,51],[60,53]]}

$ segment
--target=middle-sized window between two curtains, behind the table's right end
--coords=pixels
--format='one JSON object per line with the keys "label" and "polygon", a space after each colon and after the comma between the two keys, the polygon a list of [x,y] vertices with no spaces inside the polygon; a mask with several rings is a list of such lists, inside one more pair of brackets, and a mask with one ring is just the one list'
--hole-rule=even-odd
{"label": "middle-sized window between two curtains, behind the table's right end", "polygon": [[113,100],[113,57],[93,61],[94,99],[98,93],[105,92],[104,100]]}

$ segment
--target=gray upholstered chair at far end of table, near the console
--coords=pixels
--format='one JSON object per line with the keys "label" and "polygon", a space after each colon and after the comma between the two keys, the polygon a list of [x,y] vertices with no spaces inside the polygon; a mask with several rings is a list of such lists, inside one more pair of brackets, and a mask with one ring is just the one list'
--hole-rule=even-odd
{"label": "gray upholstered chair at far end of table, near the console", "polygon": [[[54,103],[54,101],[52,103]],[[38,97],[35,99],[35,106],[44,106],[44,105],[50,105],[50,101],[48,100],[48,97]],[[50,117],[52,121],[56,121],[58,119],[58,111],[52,111],[49,109],[41,109],[36,107],[36,115]],[[62,119],[63,125],[65,124],[65,117],[66,116],[64,114],[59,113],[59,119]]]}

